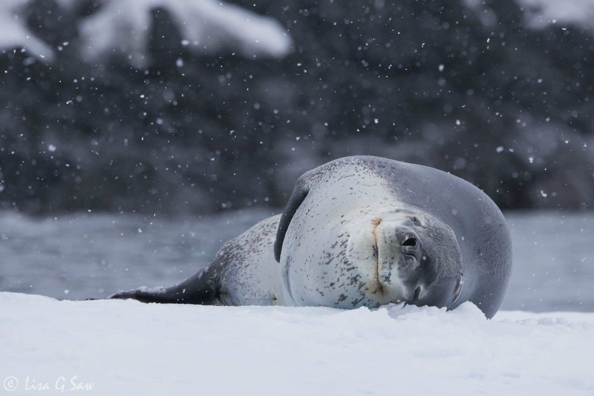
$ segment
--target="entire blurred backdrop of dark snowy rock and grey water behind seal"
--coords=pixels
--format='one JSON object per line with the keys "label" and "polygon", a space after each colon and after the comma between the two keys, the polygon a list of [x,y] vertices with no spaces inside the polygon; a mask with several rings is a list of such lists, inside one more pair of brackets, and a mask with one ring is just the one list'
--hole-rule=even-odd
{"label": "entire blurred backdrop of dark snowy rock and grey water behind seal", "polygon": [[0,290],[173,283],[301,173],[372,154],[504,210],[504,308],[594,310],[593,21],[589,0],[1,0]]}

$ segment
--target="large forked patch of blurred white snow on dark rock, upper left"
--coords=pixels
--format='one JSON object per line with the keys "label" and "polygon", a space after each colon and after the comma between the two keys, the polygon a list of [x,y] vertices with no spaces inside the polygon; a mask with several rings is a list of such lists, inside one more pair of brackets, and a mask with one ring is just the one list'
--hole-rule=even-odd
{"label": "large forked patch of blurred white snow on dark rock, upper left", "polygon": [[169,12],[182,44],[195,52],[236,50],[244,56],[282,58],[292,49],[289,34],[273,18],[215,0],[105,1],[81,22],[83,55],[97,61],[121,52],[131,64],[147,64],[151,9]]}

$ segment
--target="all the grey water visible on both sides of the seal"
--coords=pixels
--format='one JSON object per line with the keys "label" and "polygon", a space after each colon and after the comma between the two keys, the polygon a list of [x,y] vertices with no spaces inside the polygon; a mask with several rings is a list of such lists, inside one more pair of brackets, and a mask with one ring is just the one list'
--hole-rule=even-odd
{"label": "all the grey water visible on both sides of the seal", "polygon": [[[87,214],[45,220],[0,212],[0,291],[58,299],[168,286],[223,242],[270,216],[249,210],[170,220]],[[514,272],[503,309],[594,311],[594,213],[507,213]]]}

